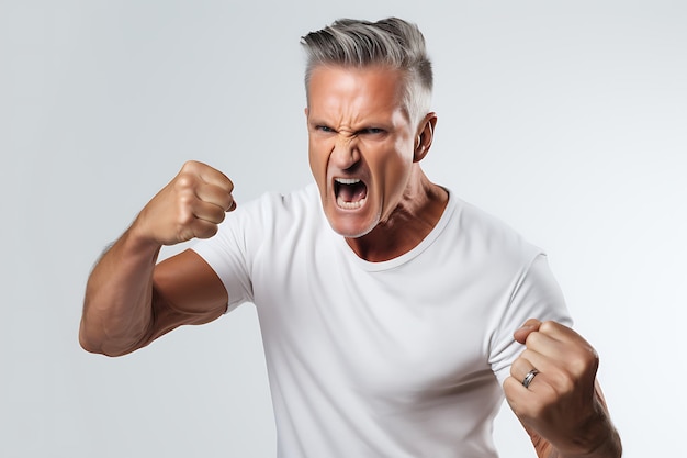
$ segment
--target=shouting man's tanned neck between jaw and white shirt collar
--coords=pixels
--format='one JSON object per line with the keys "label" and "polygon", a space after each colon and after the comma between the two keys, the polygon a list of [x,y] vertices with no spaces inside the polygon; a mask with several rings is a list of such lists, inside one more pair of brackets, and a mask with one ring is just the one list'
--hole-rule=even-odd
{"label": "shouting man's tanned neck between jaw and white shirt collar", "polygon": [[448,201],[448,192],[429,181],[418,166],[388,219],[368,234],[346,238],[346,242],[360,258],[371,262],[397,258],[415,248],[435,228]]}

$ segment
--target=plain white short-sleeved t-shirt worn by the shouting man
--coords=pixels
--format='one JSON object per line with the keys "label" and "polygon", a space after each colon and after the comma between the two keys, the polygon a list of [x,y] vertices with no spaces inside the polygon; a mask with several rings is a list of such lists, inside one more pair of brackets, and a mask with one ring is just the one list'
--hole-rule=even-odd
{"label": "plain white short-sleeved t-shirt worn by the shouting man", "polygon": [[227,215],[194,249],[258,312],[279,457],[495,457],[529,317],[570,325],[541,250],[450,193],[414,249],[359,258],[314,185]]}

